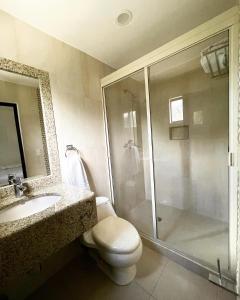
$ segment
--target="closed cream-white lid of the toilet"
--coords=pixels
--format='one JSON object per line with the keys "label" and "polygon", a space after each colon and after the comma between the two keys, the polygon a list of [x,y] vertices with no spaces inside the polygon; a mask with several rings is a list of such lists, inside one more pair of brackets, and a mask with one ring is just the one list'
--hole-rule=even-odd
{"label": "closed cream-white lid of the toilet", "polygon": [[96,244],[113,253],[131,253],[140,243],[136,228],[116,216],[107,217],[95,225],[92,237]]}

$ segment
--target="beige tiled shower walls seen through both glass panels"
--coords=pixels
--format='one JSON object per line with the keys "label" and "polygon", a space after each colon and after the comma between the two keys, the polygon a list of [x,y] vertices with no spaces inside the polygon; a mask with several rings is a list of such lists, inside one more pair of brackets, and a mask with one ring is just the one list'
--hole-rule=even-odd
{"label": "beige tiled shower walls seen through both glass panels", "polygon": [[[174,125],[169,124],[169,99],[180,95],[184,99],[182,125],[189,126],[189,139],[170,140],[169,127]],[[124,79],[111,85],[106,89],[106,103],[115,200],[120,214],[131,220],[130,211],[151,200],[144,84]],[[227,222],[228,76],[212,79],[196,68],[151,82],[150,103],[157,203],[172,213],[186,210]],[[123,124],[123,113],[132,109],[138,116],[134,130]],[[199,111],[202,124],[195,124],[193,115]],[[131,178],[131,158],[123,145],[133,136],[141,146],[141,171]],[[163,216],[162,206],[157,208]],[[140,215],[136,219],[139,227]]]}

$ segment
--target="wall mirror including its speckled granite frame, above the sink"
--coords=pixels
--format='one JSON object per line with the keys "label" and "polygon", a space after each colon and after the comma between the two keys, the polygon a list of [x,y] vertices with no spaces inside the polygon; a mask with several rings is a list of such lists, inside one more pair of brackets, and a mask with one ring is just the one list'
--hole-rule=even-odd
{"label": "wall mirror including its speckled granite frame, above the sink", "polygon": [[32,188],[61,178],[48,73],[0,58],[0,197],[13,175]]}

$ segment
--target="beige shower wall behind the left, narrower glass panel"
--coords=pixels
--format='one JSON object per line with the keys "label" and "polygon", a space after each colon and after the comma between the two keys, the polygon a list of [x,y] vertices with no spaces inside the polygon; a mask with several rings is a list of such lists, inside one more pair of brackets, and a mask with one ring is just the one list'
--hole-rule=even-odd
{"label": "beige shower wall behind the left, narrower glass panel", "polygon": [[[141,88],[144,89],[144,86],[141,87],[135,80],[124,79],[105,89],[115,200],[122,216],[145,200],[142,160],[137,171],[134,152],[124,147],[129,140],[142,146]],[[131,111],[136,111],[137,128],[124,125],[123,114]],[[139,152],[141,155],[141,148]]]}

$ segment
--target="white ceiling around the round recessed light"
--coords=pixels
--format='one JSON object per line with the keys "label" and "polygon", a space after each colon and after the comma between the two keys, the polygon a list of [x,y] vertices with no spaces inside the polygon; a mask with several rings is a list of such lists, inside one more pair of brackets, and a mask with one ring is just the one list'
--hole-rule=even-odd
{"label": "white ceiling around the round recessed light", "polygon": [[[78,48],[122,67],[236,5],[237,0],[0,0],[0,9]],[[116,24],[124,10],[133,14]]]}

